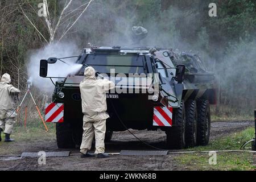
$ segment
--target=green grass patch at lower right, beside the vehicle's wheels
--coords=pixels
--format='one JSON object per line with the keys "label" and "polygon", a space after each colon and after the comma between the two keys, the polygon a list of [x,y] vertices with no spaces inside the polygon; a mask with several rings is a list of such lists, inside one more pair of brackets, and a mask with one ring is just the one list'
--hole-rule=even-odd
{"label": "green grass patch at lower right, beside the vehicle's wheels", "polygon": [[[208,146],[189,148],[188,151],[240,150],[243,143],[254,138],[254,128],[210,141]],[[249,145],[250,146],[250,145]],[[175,158],[188,170],[253,170],[255,155],[248,152],[218,152],[217,164],[209,164],[208,154],[184,154]]]}

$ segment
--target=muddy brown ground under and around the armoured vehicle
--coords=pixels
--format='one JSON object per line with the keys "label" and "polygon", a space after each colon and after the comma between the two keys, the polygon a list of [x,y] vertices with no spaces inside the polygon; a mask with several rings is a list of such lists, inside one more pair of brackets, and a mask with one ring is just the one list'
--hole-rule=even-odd
{"label": "muddy brown ground under and around the armoured vehicle", "polygon": [[[225,137],[237,131],[254,126],[252,121],[213,122],[210,140]],[[147,143],[159,148],[164,147],[166,135],[162,131],[133,131],[133,133]],[[5,144],[6,152],[2,154],[20,155],[22,152],[61,151],[56,146],[54,136],[45,139],[31,139],[26,142],[14,142]],[[152,150],[144,146],[130,133],[115,132],[112,142],[106,143],[106,152],[120,152],[121,150]],[[79,154],[79,150],[71,151]],[[81,159],[79,155],[67,158],[47,158],[46,165],[39,165],[37,158],[0,158],[1,170],[182,170],[185,167],[177,163],[175,157],[178,154],[166,156],[124,156],[113,155],[106,159]],[[16,160],[15,160],[16,159]]]}

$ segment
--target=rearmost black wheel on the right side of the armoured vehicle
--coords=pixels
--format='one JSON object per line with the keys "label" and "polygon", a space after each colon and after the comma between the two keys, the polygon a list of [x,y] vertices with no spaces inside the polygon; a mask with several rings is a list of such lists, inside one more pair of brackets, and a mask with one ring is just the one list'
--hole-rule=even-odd
{"label": "rearmost black wheel on the right side of the armoured vehicle", "polygon": [[210,104],[208,100],[197,102],[197,145],[206,146],[210,138]]}

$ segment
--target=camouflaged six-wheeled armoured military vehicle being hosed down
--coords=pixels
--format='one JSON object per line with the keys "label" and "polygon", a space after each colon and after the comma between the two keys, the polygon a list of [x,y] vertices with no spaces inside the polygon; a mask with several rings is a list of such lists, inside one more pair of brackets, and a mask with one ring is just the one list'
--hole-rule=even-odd
{"label": "camouflaged six-wheeled armoured military vehicle being hosed down", "polygon": [[[48,64],[57,60],[63,61],[41,60],[40,76],[47,77]],[[52,103],[46,106],[46,121],[56,122],[60,148],[80,146],[79,84],[88,66],[96,69],[99,79],[116,85],[106,93],[106,141],[113,131],[160,129],[166,132],[167,148],[208,144],[216,82],[198,55],[156,47],[94,47],[82,50],[76,63],[82,65],[80,71],[56,81]]]}

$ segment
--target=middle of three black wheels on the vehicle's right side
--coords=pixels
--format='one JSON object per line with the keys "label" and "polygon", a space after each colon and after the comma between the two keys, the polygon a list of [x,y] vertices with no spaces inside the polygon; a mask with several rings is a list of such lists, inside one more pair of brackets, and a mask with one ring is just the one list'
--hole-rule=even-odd
{"label": "middle of three black wheels on the vehicle's right side", "polygon": [[197,110],[196,101],[188,100],[185,103],[185,143],[186,147],[196,146],[197,137]]}

